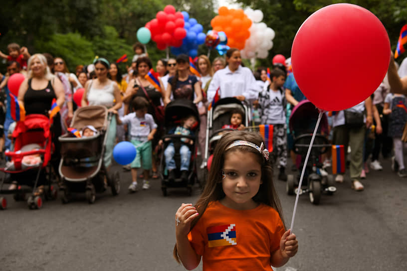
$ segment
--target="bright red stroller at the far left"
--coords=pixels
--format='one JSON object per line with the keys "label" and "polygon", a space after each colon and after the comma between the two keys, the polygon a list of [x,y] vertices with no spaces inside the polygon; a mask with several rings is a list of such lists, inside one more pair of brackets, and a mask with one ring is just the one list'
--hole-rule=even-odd
{"label": "bright red stroller at the far left", "polygon": [[[25,194],[30,193],[27,199],[28,207],[39,209],[42,207],[42,197],[35,195],[38,186],[45,185],[46,199],[55,199],[58,193],[57,186],[52,185],[52,133],[49,119],[40,114],[27,115],[25,121],[16,124],[12,141],[14,151],[4,153],[11,161],[0,170],[9,173],[9,180],[16,184],[16,189],[2,189],[6,175],[4,174],[0,183],[0,194],[13,194],[14,200],[23,201]],[[36,163],[30,163],[29,160],[27,163],[24,157],[27,158],[28,155],[36,158]],[[5,209],[6,206],[5,197],[0,197],[0,209]]]}

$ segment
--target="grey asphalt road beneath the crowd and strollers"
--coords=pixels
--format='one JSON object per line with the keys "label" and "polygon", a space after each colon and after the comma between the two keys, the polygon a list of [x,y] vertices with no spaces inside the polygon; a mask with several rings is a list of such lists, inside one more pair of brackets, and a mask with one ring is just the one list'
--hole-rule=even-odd
{"label": "grey asphalt road beneath the crowd and strollers", "polygon": [[[407,270],[407,178],[390,170],[390,159],[382,164],[383,171],[363,181],[363,192],[353,191],[346,178],[318,206],[300,196],[294,225],[299,251],[278,271]],[[0,270],[185,270],[172,258],[174,217],[198,194],[176,189],[163,197],[158,180],[150,190],[129,194],[130,172],[113,169],[120,171],[120,194],[105,192],[92,205],[78,195],[68,204],[58,199],[29,210],[7,195],[8,208],[0,211]],[[285,193],[284,182],[275,185],[289,226],[295,196]]]}

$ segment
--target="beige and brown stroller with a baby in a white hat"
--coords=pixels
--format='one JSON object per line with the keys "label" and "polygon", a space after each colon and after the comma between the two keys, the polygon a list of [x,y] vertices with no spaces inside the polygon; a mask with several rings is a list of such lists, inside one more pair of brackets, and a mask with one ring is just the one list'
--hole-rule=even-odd
{"label": "beige and brown stroller with a baby in a white hat", "polygon": [[71,193],[86,194],[89,203],[94,203],[96,192],[106,190],[110,186],[113,195],[120,191],[120,175],[118,171],[107,175],[103,163],[108,127],[113,114],[107,112],[104,106],[88,106],[78,108],[71,122],[71,128],[81,131],[92,125],[97,129],[93,136],[75,137],[71,133],[60,136],[61,161],[59,175],[60,190],[63,192],[62,203],[67,203]]}

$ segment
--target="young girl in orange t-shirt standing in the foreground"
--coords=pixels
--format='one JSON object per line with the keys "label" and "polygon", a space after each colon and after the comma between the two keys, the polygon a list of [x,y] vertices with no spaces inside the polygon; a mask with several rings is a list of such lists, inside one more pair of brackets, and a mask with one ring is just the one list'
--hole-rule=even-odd
{"label": "young girl in orange t-shirt standing in the foreground", "polygon": [[174,257],[188,270],[272,270],[298,250],[286,231],[263,139],[232,131],[221,137],[195,207],[176,213]]}

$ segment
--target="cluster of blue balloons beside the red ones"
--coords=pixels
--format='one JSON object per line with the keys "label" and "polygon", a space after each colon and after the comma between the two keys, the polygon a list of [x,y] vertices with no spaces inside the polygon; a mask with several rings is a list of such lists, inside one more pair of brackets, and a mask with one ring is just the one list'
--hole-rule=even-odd
{"label": "cluster of blue balloons beside the red ones", "polygon": [[191,57],[196,57],[198,55],[198,45],[205,42],[206,35],[202,32],[204,27],[195,18],[190,18],[188,12],[182,11],[180,13],[183,15],[183,26],[187,34],[181,44],[177,44],[178,46],[172,45],[171,53],[174,55],[187,54]]}

